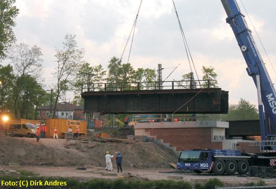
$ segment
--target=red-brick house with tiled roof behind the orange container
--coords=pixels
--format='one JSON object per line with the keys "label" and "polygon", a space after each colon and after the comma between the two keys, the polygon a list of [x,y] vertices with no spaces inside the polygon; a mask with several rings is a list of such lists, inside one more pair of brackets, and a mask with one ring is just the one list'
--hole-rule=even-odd
{"label": "red-brick house with tiled roof behind the orange container", "polygon": [[[83,106],[75,106],[69,102],[56,104],[55,118],[58,119],[84,119]],[[48,119],[54,113],[54,104],[52,106],[40,107],[37,110],[37,119]]]}

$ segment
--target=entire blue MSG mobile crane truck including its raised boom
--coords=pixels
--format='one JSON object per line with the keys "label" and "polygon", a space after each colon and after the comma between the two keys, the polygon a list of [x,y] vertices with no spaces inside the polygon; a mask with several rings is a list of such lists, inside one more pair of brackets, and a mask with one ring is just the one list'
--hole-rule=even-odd
{"label": "entire blue MSG mobile crane truck including its raised boom", "polygon": [[[196,173],[208,172],[232,175],[238,171],[245,174],[249,166],[273,167],[276,165],[276,141],[271,131],[276,131],[276,92],[264,61],[255,45],[252,32],[245,16],[235,0],[221,0],[227,14],[226,22],[235,35],[247,64],[246,71],[257,87],[260,130],[262,141],[254,142],[260,146],[260,153],[241,153],[236,150],[184,150],[181,152],[177,169]],[[265,118],[264,118],[265,117]],[[261,169],[265,170],[265,169]]]}

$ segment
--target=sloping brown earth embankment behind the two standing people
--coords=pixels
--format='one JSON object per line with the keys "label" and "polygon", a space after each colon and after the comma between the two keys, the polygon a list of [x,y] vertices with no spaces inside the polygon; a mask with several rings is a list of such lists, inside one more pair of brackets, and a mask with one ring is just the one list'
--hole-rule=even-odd
{"label": "sloping brown earth embankment behind the two standing people", "polygon": [[[41,138],[0,136],[0,165],[96,165],[105,166],[105,154],[121,152],[123,166],[134,163],[142,167],[170,167],[169,162],[178,158],[163,145],[153,142],[95,142]],[[131,160],[130,160],[131,159]],[[133,162],[134,161],[134,162]]]}

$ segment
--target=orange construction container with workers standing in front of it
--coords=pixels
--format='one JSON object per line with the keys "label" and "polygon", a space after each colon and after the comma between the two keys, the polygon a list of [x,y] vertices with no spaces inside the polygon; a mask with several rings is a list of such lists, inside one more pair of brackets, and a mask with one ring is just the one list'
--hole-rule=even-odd
{"label": "orange construction container with workers standing in front of it", "polygon": [[80,129],[80,136],[86,136],[86,121],[78,121],[72,119],[46,119],[46,137],[54,136],[54,129],[57,129],[58,138],[65,138],[65,134],[67,133],[69,127],[72,128],[73,133],[76,132],[76,127]]}

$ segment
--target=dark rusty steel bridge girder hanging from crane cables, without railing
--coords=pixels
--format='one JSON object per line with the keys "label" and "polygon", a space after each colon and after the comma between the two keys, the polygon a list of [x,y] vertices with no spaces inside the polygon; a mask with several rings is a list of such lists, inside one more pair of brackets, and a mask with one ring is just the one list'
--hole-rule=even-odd
{"label": "dark rusty steel bridge girder hanging from crane cables, without railing", "polygon": [[[228,91],[218,88],[90,91],[83,92],[82,97],[85,112],[104,114],[226,114],[228,112]],[[176,110],[178,111],[175,112]]]}

